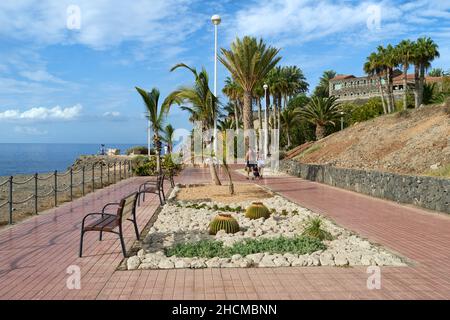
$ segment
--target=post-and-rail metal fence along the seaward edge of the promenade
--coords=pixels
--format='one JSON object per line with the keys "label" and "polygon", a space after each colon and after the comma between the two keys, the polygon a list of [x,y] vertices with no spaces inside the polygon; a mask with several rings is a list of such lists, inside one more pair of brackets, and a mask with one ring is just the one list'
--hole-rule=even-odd
{"label": "post-and-rail metal fence along the seaward edge of the promenade", "polygon": [[[99,170],[96,170],[99,168]],[[106,174],[105,174],[106,171]],[[86,176],[87,172],[90,172],[90,177]],[[81,179],[78,183],[74,183],[74,177],[76,175],[81,173]],[[84,196],[87,193],[86,187],[91,187],[91,191],[95,191],[96,189],[101,189],[104,186],[108,186],[110,184],[114,184],[120,180],[127,179],[132,176],[132,163],[131,160],[125,160],[125,161],[115,161],[115,162],[108,162],[108,163],[94,163],[90,166],[83,166],[78,170],[74,170],[73,168],[70,168],[69,170],[65,171],[64,173],[59,173],[57,170],[55,170],[51,174],[47,174],[45,176],[39,175],[38,173],[34,174],[32,177],[23,180],[18,181],[18,177],[10,176],[7,180],[0,183],[0,188],[6,187],[7,189],[7,201],[4,201],[3,203],[0,203],[0,209],[3,207],[7,207],[7,213],[8,213],[8,224],[13,224],[13,213],[15,211],[14,206],[15,205],[23,205],[26,204],[29,201],[33,202],[33,210],[34,214],[39,213],[39,199],[53,197],[53,206],[50,207],[57,207],[58,206],[58,196],[61,193],[69,192],[69,201],[72,201],[75,198],[74,191],[76,188],[80,188],[81,190],[81,196]],[[62,179],[68,181],[66,183],[65,187],[58,187],[58,182]],[[90,178],[90,179],[88,179]],[[47,188],[50,188],[50,191],[47,193],[41,194],[39,191],[42,192],[42,190],[39,190],[39,182],[40,181],[50,181],[53,179],[53,184],[48,186]],[[106,181],[105,181],[106,179]],[[97,186],[96,186],[97,182]],[[15,193],[15,186],[25,186],[29,183],[33,183],[33,191],[31,192],[31,195],[24,198],[24,199],[15,199],[14,193]],[[45,189],[45,188],[41,188]],[[48,209],[48,208],[45,208]]]}

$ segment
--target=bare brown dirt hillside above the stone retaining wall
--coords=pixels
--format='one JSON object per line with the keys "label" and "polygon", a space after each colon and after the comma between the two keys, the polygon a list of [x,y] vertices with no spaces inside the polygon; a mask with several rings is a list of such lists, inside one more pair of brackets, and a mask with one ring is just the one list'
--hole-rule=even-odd
{"label": "bare brown dirt hillside above the stone retaining wall", "polygon": [[425,106],[355,124],[315,142],[294,159],[343,168],[447,176],[448,107]]}

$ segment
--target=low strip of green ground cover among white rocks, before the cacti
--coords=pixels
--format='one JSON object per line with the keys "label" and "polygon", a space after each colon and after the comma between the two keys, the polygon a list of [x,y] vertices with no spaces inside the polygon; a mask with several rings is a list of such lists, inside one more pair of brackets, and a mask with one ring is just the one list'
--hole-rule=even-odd
{"label": "low strip of green ground cover among white rocks, before the cacti", "polygon": [[296,253],[307,254],[325,250],[326,246],[318,239],[297,236],[295,238],[278,237],[272,239],[248,239],[235,243],[232,247],[224,247],[221,241],[201,240],[198,242],[180,243],[167,248],[167,256],[229,258],[234,254],[246,256],[253,253],[268,252],[270,254]]}

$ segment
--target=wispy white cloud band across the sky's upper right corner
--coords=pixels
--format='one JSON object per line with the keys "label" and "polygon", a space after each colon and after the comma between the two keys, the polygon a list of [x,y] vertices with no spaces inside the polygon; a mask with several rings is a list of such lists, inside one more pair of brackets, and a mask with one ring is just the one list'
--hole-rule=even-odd
{"label": "wispy white cloud band across the sky's upper right corner", "polygon": [[[354,37],[355,42],[367,42],[395,37],[423,26],[439,27],[445,23],[442,19],[450,17],[449,3],[438,0],[406,4],[386,0],[253,1],[239,10],[235,18],[227,23],[227,37],[232,40],[236,36],[252,35],[274,40],[278,42],[277,45],[282,46],[323,38],[333,43],[338,42],[341,35]],[[368,29],[370,6],[381,8],[380,30]],[[435,23],[436,19],[439,19],[439,24]]]}

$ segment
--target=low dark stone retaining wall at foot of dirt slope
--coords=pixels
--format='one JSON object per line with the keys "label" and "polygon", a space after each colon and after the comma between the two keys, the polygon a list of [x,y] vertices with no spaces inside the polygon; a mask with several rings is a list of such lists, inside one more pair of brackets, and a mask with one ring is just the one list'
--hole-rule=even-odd
{"label": "low dark stone retaining wall at foot of dirt slope", "polygon": [[450,179],[280,161],[280,170],[369,196],[450,213]]}

